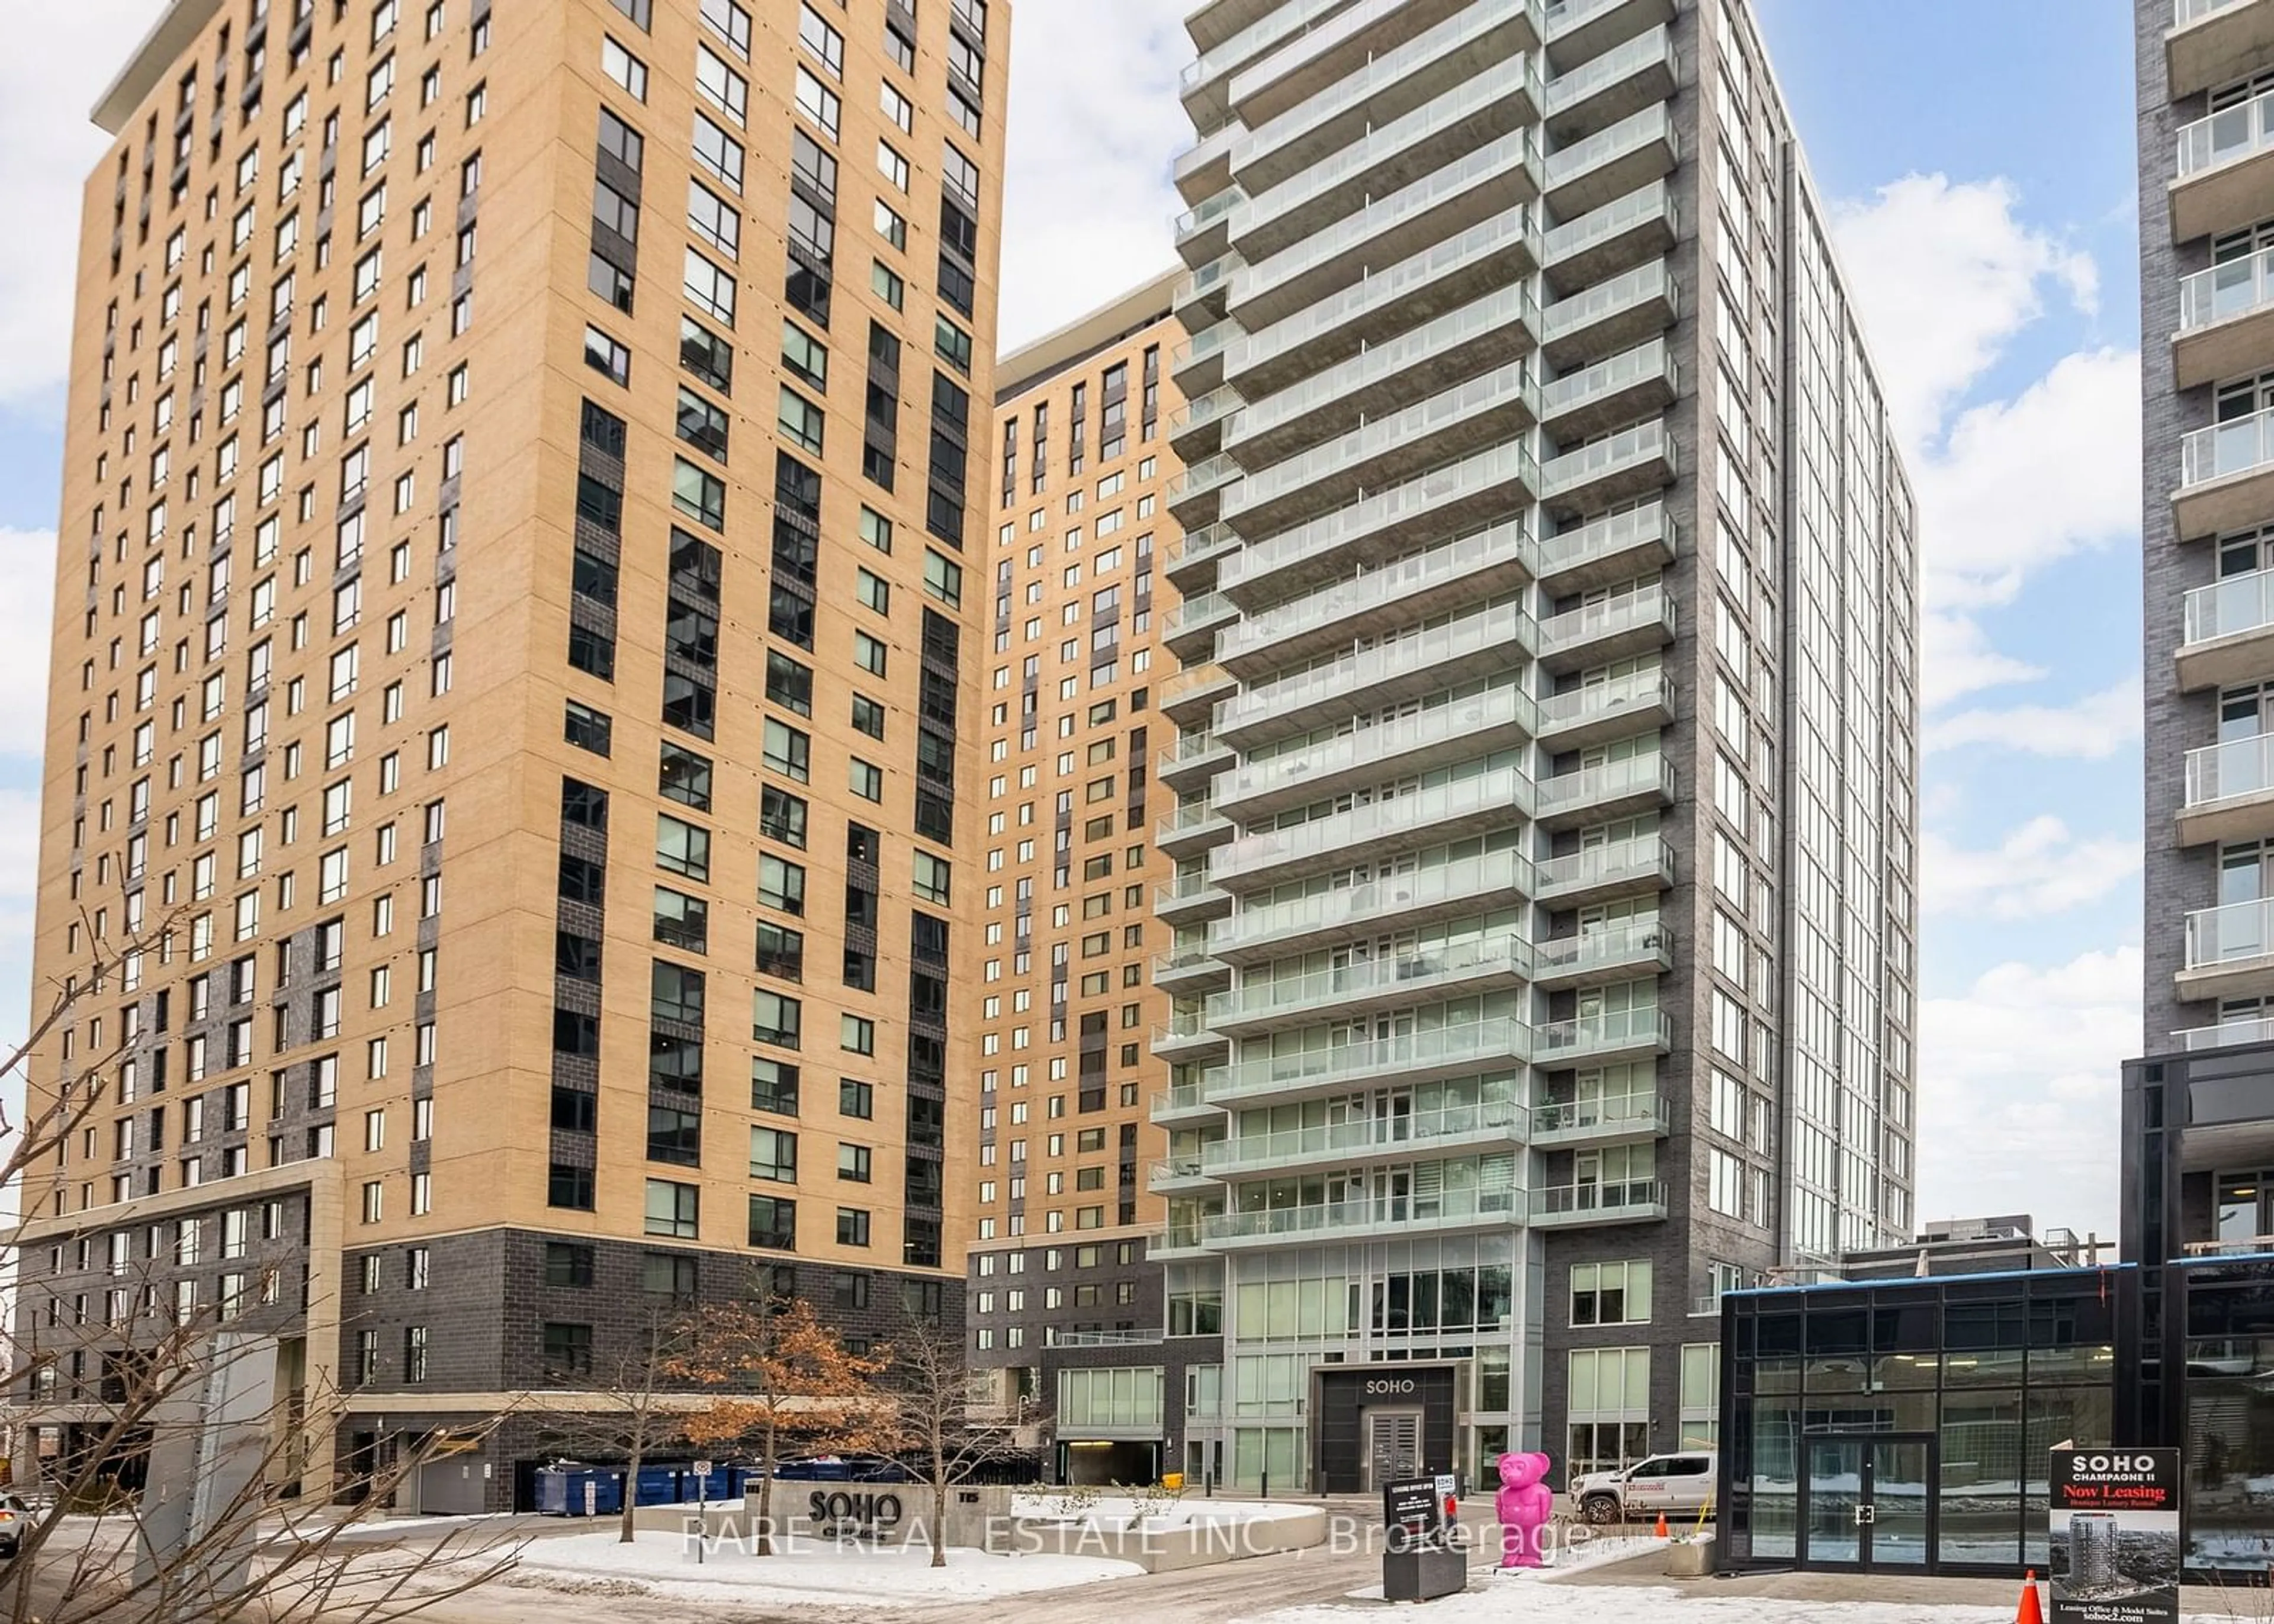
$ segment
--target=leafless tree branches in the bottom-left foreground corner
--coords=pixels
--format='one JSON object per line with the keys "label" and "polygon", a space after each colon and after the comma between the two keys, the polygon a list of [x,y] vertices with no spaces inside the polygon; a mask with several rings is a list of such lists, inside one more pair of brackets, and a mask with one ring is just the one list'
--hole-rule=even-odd
{"label": "leafless tree branches in the bottom-left foreground corner", "polygon": [[[111,1078],[130,1039],[84,1053],[75,1071],[32,1076],[34,1053],[64,1030],[89,999],[134,989],[143,955],[164,960],[177,917],[123,935],[96,935],[89,958],[43,992],[30,1035],[0,1055],[0,1080],[23,1087],[20,1110],[0,1092],[0,1185],[30,1196],[41,1171],[114,1103]],[[227,1183],[214,1185],[216,1205]],[[14,1258],[32,1226],[61,1215],[14,1219],[0,1246]],[[100,1219],[96,1219],[100,1224]],[[291,1406],[221,1419],[218,1394],[266,1392],[273,1342],[241,1321],[248,1303],[271,1301],[275,1276],[248,1274],[241,1294],[184,1308],[159,1290],[159,1267],[114,1274],[98,1324],[57,1326],[43,1337],[23,1308],[25,1333],[7,1326],[5,1369],[18,1410],[57,1401],[66,1353],[93,1353],[93,1401],[66,1406],[68,1444],[32,1465],[39,1492],[9,1519],[16,1556],[0,1572],[0,1624],[234,1624],[284,1615],[337,1624],[387,1624],[464,1594],[507,1572],[518,1544],[487,1531],[439,1542],[373,1538],[396,1492],[434,1458],[428,1442],[380,1465],[359,1465],[323,1485],[327,1494],[289,1499],[312,1458],[321,1458],[352,1408],[323,1376],[296,1390]],[[18,1276],[20,1278],[20,1276]],[[243,1401],[241,1401],[243,1403]],[[503,1419],[503,1417],[500,1417]],[[496,1422],[491,1422],[493,1426]],[[139,1478],[152,1476],[146,1492]],[[16,1467],[18,1483],[25,1467]],[[325,1503],[332,1501],[332,1503]]]}

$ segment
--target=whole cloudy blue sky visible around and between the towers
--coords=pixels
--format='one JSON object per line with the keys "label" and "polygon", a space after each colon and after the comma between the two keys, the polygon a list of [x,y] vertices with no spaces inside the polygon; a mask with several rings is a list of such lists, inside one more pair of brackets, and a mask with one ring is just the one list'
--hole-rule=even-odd
{"label": "whole cloudy blue sky visible around and between the towers", "polygon": [[[2110,1233],[2140,1049],[2131,7],[1756,2],[1924,514],[1919,1215]],[[1016,0],[1005,341],[1169,259],[1185,5]],[[41,5],[0,59],[0,1033],[30,976],[27,582],[52,569],[84,109],[157,11]]]}

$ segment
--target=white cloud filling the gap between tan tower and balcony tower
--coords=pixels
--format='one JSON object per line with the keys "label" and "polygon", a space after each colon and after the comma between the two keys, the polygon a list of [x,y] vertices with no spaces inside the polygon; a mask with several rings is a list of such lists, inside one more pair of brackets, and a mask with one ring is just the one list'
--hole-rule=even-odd
{"label": "white cloud filling the gap between tan tower and balcony tower", "polygon": [[1176,264],[1192,146],[1176,80],[1187,0],[1021,0],[1003,182],[1001,348],[1096,309]]}

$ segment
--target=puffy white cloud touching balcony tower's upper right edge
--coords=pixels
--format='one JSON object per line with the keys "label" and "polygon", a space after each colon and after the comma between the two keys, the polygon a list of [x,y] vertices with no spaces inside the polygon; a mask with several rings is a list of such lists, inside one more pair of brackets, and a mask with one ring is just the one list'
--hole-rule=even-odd
{"label": "puffy white cloud touching balcony tower's upper right edge", "polygon": [[2015,202],[2006,180],[1903,175],[1872,202],[1833,209],[1887,412],[1910,446],[1924,446],[2006,341],[2044,312],[2047,282],[2078,309],[2097,305],[2092,257],[2022,225]]}

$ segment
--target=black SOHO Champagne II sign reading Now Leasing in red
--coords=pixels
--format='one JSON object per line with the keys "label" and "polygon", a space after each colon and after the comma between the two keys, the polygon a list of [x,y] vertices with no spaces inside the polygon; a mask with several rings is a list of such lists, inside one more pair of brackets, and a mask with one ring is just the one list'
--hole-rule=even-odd
{"label": "black SOHO Champagne II sign reading Now Leasing in red", "polygon": [[2178,1624],[2178,1451],[2056,1449],[2051,1624]]}

